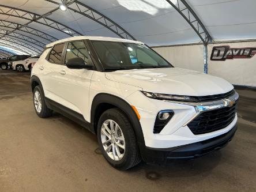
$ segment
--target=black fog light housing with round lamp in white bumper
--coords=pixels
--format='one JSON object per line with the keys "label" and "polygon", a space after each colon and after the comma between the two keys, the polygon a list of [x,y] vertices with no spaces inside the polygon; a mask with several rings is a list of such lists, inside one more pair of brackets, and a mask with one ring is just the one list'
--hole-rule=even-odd
{"label": "black fog light housing with round lamp in white bumper", "polygon": [[161,130],[164,129],[165,125],[167,125],[167,123],[171,120],[172,116],[174,116],[174,111],[172,110],[159,111],[156,116],[153,133],[160,133]]}

